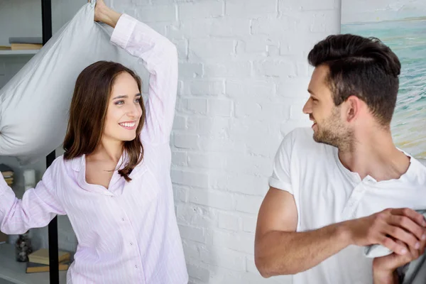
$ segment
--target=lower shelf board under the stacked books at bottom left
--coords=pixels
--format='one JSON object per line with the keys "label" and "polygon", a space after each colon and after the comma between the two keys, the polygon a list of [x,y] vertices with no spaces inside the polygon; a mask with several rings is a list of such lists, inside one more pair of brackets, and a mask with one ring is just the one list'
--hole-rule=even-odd
{"label": "lower shelf board under the stacked books at bottom left", "polygon": [[[15,246],[0,244],[0,279],[15,284],[48,284],[49,273],[26,273],[26,263],[15,260]],[[67,283],[67,271],[59,272],[59,283]]]}

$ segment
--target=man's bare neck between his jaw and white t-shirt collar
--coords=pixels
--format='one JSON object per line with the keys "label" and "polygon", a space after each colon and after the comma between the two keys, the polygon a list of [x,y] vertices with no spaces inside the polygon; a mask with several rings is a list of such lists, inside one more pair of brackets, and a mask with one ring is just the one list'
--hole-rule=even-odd
{"label": "man's bare neck between his jaw and white t-shirt collar", "polygon": [[370,175],[377,181],[398,179],[407,172],[410,158],[395,147],[389,131],[363,133],[354,143],[339,148],[342,164],[361,179]]}

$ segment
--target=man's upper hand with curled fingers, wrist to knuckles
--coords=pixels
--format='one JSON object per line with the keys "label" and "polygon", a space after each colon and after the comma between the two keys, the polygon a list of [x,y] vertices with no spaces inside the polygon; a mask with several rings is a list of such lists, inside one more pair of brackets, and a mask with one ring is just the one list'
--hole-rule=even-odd
{"label": "man's upper hand with curled fingers, wrist to knuckles", "polygon": [[426,240],[425,218],[413,209],[385,209],[344,223],[348,226],[352,244],[381,244],[400,256],[408,251],[418,251]]}

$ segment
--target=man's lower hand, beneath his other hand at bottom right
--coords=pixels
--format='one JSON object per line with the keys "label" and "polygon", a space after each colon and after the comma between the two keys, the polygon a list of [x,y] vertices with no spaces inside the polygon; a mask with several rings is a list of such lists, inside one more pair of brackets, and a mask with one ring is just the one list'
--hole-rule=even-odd
{"label": "man's lower hand, beneath his other hand at bottom right", "polygon": [[[403,242],[396,241],[400,246],[405,246]],[[425,253],[426,241],[420,242],[420,249],[413,249],[409,246],[405,246],[408,253],[400,256],[396,253],[392,253],[389,256],[382,256],[379,258],[374,258],[373,260],[373,280],[374,284],[397,284],[398,276],[395,271],[401,266],[415,261],[423,253]]]}

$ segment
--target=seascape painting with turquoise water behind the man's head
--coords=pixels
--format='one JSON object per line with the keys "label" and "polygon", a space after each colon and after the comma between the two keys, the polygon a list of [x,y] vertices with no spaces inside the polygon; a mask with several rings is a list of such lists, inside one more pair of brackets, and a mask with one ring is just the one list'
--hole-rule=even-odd
{"label": "seascape painting with turquoise water behind the man's head", "polygon": [[426,158],[426,1],[342,0],[341,33],[378,38],[398,56],[393,141],[415,158]]}

